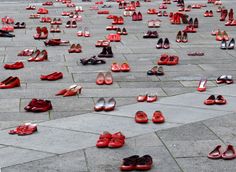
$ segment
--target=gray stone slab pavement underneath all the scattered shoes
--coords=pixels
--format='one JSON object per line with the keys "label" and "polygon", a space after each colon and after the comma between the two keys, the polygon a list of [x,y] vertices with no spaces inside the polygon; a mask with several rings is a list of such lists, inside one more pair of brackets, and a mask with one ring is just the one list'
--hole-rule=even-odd
{"label": "gray stone slab pavement underneath all the scattered shoes", "polygon": [[[31,1],[32,2],[32,1]],[[41,1],[35,1],[37,6]],[[17,71],[7,71],[0,68],[0,80],[10,75],[19,76],[21,88],[0,90],[0,171],[1,172],[116,172],[121,159],[132,154],[150,154],[154,159],[153,172],[235,172],[235,160],[209,160],[207,154],[216,144],[233,144],[236,146],[236,86],[220,86],[215,79],[222,74],[236,76],[236,51],[219,49],[220,43],[210,35],[213,29],[224,29],[232,37],[236,35],[235,27],[224,27],[219,22],[216,6],[192,10],[190,17],[198,17],[200,28],[195,34],[189,34],[189,43],[175,42],[177,31],[183,25],[170,25],[168,18],[163,20],[158,28],[159,37],[168,37],[171,48],[167,51],[155,49],[157,39],[143,40],[147,21],[156,16],[144,15],[142,22],[132,22],[125,18],[129,35],[122,37],[120,43],[112,43],[115,57],[107,59],[107,64],[98,66],[82,66],[79,59],[101,52],[94,48],[98,39],[103,39],[109,32],[105,27],[110,20],[96,11],[88,10],[94,4],[75,1],[82,5],[83,21],[78,23],[88,26],[92,37],[76,37],[77,29],[61,27],[61,34],[49,34],[80,43],[83,47],[81,54],[69,54],[68,47],[45,47],[42,41],[35,41],[33,34],[36,26],[44,26],[38,20],[30,20],[32,11],[26,11],[28,1],[1,1],[0,16],[8,15],[16,21],[25,21],[27,29],[16,30],[13,39],[0,38],[0,62],[17,60],[25,61],[25,68]],[[196,1],[187,1],[192,4]],[[206,3],[206,0],[198,0]],[[140,11],[145,14],[148,8],[158,8],[161,1],[150,3],[141,2]],[[223,0],[226,8],[234,8],[232,0]],[[107,3],[113,6],[112,14],[122,15],[117,3]],[[64,5],[56,3],[48,7],[49,15],[61,17],[63,10],[69,10]],[[203,18],[205,10],[212,9],[215,17]],[[168,12],[176,11],[172,3]],[[67,21],[67,18],[63,18]],[[123,27],[123,26],[122,26]],[[49,61],[28,63],[26,58],[16,54],[25,48],[47,49]],[[189,51],[203,51],[205,56],[190,57]],[[163,52],[180,57],[177,66],[164,66],[165,75],[150,77],[146,71],[156,64]],[[130,73],[114,74],[114,84],[97,86],[95,78],[99,71],[110,70],[113,61],[128,61]],[[40,81],[40,74],[61,71],[62,80],[55,82]],[[208,90],[196,93],[196,87],[201,77],[208,78]],[[76,97],[55,97],[54,94],[73,83],[81,84],[84,89]],[[160,97],[156,103],[136,103],[136,96],[141,93],[157,93]],[[211,94],[222,94],[228,100],[224,106],[205,106],[203,101]],[[94,102],[99,97],[112,97],[117,100],[115,111],[104,113],[93,112]],[[49,113],[33,114],[24,111],[24,106],[32,98],[45,98],[52,101],[53,110]],[[161,110],[166,122],[146,125],[134,122],[134,113],[138,110],[147,112],[149,118],[155,110]],[[39,123],[38,132],[24,137],[8,135],[11,128],[23,122]],[[120,149],[98,149],[94,145],[99,134],[103,131],[122,131],[127,136],[126,145]]]}

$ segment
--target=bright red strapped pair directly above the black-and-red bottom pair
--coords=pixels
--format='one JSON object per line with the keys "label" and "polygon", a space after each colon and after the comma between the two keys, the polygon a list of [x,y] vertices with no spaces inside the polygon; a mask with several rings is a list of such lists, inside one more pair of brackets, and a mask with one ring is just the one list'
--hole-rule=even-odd
{"label": "bright red strapped pair directly above the black-and-red bottom pair", "polygon": [[120,148],[125,144],[125,136],[121,132],[110,134],[109,132],[103,132],[99,136],[96,146],[98,148]]}

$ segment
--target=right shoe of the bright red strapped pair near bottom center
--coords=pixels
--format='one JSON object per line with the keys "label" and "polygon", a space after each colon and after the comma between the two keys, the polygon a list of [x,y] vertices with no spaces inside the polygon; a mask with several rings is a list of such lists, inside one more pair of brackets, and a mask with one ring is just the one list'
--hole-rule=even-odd
{"label": "right shoe of the bright red strapped pair near bottom center", "polygon": [[108,144],[109,148],[120,148],[125,144],[125,136],[121,133],[112,134],[112,139]]}

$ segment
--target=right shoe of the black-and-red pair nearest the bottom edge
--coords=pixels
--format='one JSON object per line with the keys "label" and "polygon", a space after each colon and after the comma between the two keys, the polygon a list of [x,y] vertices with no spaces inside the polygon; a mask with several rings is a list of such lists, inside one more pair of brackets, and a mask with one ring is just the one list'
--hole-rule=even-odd
{"label": "right shoe of the black-and-red pair nearest the bottom edge", "polygon": [[137,159],[135,170],[150,170],[152,164],[152,157],[150,155],[144,155]]}

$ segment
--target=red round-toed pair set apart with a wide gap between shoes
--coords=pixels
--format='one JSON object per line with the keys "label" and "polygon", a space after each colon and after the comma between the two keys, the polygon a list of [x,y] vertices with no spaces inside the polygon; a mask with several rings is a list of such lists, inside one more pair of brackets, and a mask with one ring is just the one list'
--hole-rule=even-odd
{"label": "red round-toed pair set apart with a wide gap between shoes", "polygon": [[[137,111],[135,114],[135,122],[137,123],[148,123],[148,116],[143,111]],[[163,123],[165,122],[165,117],[161,111],[155,111],[152,116],[153,123]]]}

